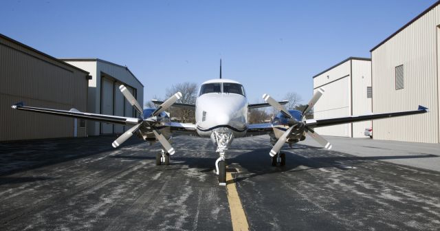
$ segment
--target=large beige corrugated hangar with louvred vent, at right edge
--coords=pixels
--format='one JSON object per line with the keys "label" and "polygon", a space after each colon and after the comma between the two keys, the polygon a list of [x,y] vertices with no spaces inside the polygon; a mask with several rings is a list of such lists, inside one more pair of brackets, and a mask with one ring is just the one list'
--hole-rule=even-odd
{"label": "large beige corrugated hangar with louvred vent, at right edge", "polygon": [[429,113],[373,121],[373,138],[440,142],[440,1],[371,50],[373,113]]}

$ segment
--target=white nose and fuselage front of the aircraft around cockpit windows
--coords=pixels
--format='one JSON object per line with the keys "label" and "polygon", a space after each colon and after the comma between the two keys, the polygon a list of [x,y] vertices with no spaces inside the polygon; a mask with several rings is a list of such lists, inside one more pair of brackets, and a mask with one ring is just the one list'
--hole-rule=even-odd
{"label": "white nose and fuselage front of the aircraft around cockpit windows", "polygon": [[[203,93],[203,85],[221,85],[221,91]],[[225,87],[223,88],[223,84]],[[228,92],[234,80],[214,79],[201,85],[195,104],[195,124],[201,137],[211,137],[213,131],[230,131],[233,137],[243,137],[248,129],[248,99],[244,89],[239,94]],[[223,90],[224,89],[224,90]]]}

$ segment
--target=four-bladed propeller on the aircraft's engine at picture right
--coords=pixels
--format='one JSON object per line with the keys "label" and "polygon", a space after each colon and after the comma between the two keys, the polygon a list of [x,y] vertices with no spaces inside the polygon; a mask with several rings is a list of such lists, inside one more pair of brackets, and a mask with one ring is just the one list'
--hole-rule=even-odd
{"label": "four-bladed propeller on the aircraft's engine at picture right", "polygon": [[314,107],[314,105],[316,104],[316,102],[318,102],[319,98],[322,96],[323,93],[324,93],[324,89],[318,88],[318,91],[315,92],[314,96],[311,98],[311,100],[306,105],[305,109],[303,110],[300,121],[296,120],[296,118],[294,118],[289,113],[289,111],[287,111],[287,109],[285,109],[285,107],[283,105],[279,104],[278,101],[274,100],[274,98],[272,98],[271,96],[269,96],[267,94],[263,95],[263,99],[268,104],[270,104],[275,109],[278,109],[279,111],[281,111],[281,113],[283,113],[283,115],[285,115],[287,117],[288,123],[290,126],[289,129],[287,129],[287,131],[285,131],[285,133],[283,133],[283,135],[281,135],[281,137],[278,139],[278,141],[275,143],[274,147],[270,151],[270,155],[272,157],[274,155],[276,155],[281,150],[281,147],[286,142],[287,137],[290,134],[292,134],[292,131],[294,131],[294,128],[296,128],[296,130],[304,128],[305,131],[307,131],[307,134],[310,137],[314,138],[314,140],[316,140],[316,142],[318,142],[319,144],[321,144],[322,146],[324,146],[327,149],[331,148],[331,144],[327,140],[325,140],[322,136],[320,136],[318,133],[316,133],[316,131],[309,128],[309,126],[307,126],[304,122],[305,113],[309,112]]}

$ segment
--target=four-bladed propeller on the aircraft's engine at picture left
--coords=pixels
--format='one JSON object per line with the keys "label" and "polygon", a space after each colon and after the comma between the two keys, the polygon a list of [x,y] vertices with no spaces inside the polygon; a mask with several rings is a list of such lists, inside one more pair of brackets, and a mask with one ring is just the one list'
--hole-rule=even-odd
{"label": "four-bladed propeller on the aircraft's engine at picture left", "polygon": [[150,125],[149,127],[153,130],[153,134],[155,135],[155,137],[159,141],[159,143],[162,145],[162,147],[166,150],[166,152],[170,153],[170,155],[173,155],[175,153],[174,148],[171,146],[171,144],[168,142],[168,140],[166,140],[164,135],[162,135],[156,129],[154,129],[153,128],[154,126],[151,126],[151,124],[156,122],[156,120],[154,119],[155,116],[162,113],[162,111],[165,111],[166,109],[168,109],[177,100],[179,100],[179,98],[181,98],[181,96],[182,96],[181,93],[177,92],[176,94],[174,94],[173,96],[168,98],[168,100],[166,100],[165,102],[160,104],[160,106],[155,111],[153,111],[153,113],[151,114],[150,117],[148,117],[144,120],[144,113],[142,111],[142,107],[140,106],[139,102],[137,102],[136,98],[134,98],[133,95],[130,93],[129,89],[127,89],[124,85],[120,85],[119,89],[122,92],[122,94],[124,95],[124,97],[126,98],[126,100],[128,100],[130,102],[131,106],[133,106],[135,108],[135,110],[140,113],[140,120],[139,120],[138,124],[131,127],[131,129],[129,129],[128,131],[126,131],[125,133],[120,135],[120,137],[118,137],[118,139],[116,139],[111,144],[111,146],[113,146],[113,148],[120,146],[123,142],[128,140],[129,137],[131,137],[131,135],[133,135],[138,129],[142,129],[142,124],[144,122],[146,122],[146,123],[148,123],[148,125]]}

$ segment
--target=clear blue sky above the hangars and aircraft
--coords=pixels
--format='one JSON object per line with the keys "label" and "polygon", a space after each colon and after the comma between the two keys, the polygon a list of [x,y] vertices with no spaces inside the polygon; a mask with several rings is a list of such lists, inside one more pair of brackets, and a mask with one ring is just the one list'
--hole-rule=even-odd
{"label": "clear blue sky above the hangars and aircraft", "polygon": [[57,58],[128,66],[144,101],[173,83],[219,76],[243,83],[250,102],[294,91],[375,45],[434,0],[2,1],[0,33]]}

